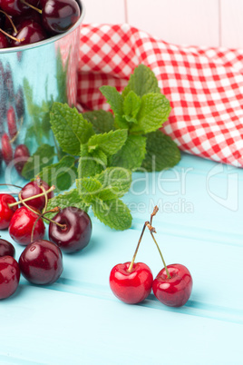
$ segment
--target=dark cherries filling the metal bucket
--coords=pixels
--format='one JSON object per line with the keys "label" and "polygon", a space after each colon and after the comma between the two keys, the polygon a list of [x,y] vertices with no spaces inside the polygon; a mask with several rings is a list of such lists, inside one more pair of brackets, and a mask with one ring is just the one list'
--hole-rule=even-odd
{"label": "dark cherries filling the metal bucket", "polygon": [[76,0],[0,0],[0,48],[59,35],[80,18]]}

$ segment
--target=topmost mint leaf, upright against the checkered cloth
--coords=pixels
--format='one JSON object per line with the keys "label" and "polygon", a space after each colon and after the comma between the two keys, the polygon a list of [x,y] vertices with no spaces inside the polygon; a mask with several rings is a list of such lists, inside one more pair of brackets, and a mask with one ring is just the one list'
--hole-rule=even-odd
{"label": "topmost mint leaf, upright against the checkered cloth", "polygon": [[131,90],[138,96],[151,93],[160,94],[158,80],[150,67],[145,66],[145,64],[140,64],[134,69],[133,74],[130,76],[128,85],[122,92],[122,96],[125,97],[131,92]]}

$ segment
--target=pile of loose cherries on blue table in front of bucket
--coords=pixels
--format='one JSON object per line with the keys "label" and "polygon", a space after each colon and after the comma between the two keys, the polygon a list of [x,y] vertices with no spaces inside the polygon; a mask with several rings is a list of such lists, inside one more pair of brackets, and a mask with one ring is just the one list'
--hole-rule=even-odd
{"label": "pile of loose cherries on blue table in front of bucket", "polygon": [[[34,284],[57,281],[63,272],[62,252],[79,252],[90,242],[92,222],[86,212],[75,207],[46,210],[53,190],[37,178],[21,189],[18,202],[0,193],[0,229],[8,229],[15,242],[26,246],[16,261],[13,244],[0,239],[0,299],[16,291],[21,273]],[[46,216],[50,212],[56,212],[53,219]],[[50,222],[49,240],[44,240],[44,220]]]}

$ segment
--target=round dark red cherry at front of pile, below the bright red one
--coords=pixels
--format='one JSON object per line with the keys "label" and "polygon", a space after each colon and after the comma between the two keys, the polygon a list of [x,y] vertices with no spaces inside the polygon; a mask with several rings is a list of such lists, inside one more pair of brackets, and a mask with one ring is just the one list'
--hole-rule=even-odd
{"label": "round dark red cherry at front of pile, below the bright red one", "polygon": [[27,281],[52,284],[63,272],[63,255],[53,242],[37,240],[25,247],[19,258],[19,267]]}

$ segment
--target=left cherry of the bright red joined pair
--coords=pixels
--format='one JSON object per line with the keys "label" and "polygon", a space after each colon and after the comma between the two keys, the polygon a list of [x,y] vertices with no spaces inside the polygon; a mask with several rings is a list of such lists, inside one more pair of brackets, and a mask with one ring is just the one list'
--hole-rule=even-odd
{"label": "left cherry of the bright red joined pair", "polygon": [[115,265],[110,275],[110,286],[114,295],[128,304],[144,301],[151,293],[152,273],[149,266],[143,262],[134,263],[128,271],[131,262]]}

